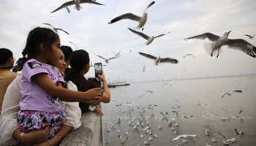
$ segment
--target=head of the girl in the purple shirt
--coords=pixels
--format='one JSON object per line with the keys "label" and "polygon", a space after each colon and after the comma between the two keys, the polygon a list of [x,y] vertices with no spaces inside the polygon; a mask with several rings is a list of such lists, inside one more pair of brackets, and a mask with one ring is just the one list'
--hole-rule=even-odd
{"label": "head of the girl in the purple shirt", "polygon": [[26,39],[22,54],[28,58],[43,58],[46,64],[55,64],[59,59],[59,35],[49,28],[34,28]]}

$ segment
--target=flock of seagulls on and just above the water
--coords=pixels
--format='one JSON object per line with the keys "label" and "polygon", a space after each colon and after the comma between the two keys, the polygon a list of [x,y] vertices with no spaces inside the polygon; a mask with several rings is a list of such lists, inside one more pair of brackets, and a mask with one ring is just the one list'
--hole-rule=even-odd
{"label": "flock of seagulls on and just above the water", "polygon": [[[153,91],[149,91],[149,90],[146,90],[146,92],[154,93]],[[225,93],[223,96],[225,95],[230,96],[231,93],[242,93],[242,91],[240,90],[230,91]],[[175,100],[175,101],[179,103],[178,100]],[[113,102],[116,102],[116,100],[113,100]],[[198,105],[205,107],[208,104],[198,104]],[[127,106],[128,108],[125,106]],[[202,135],[199,135],[199,134],[179,134],[180,133],[179,129],[181,128],[181,126],[178,124],[176,119],[184,118],[185,120],[188,118],[194,118],[193,115],[181,116],[179,114],[179,111],[181,110],[181,105],[170,107],[170,112],[159,112],[160,116],[162,115],[162,119],[160,118],[161,120],[158,122],[159,123],[157,126],[158,131],[156,130],[156,126],[155,126],[155,123],[156,123],[155,120],[157,120],[158,118],[157,119],[154,118],[155,117],[154,111],[156,110],[155,108],[158,107],[157,104],[148,104],[146,107],[138,107],[138,106],[135,106],[135,103],[131,103],[130,101],[127,101],[126,103],[116,104],[116,107],[118,108],[118,110],[116,110],[118,117],[116,119],[113,119],[113,122],[111,123],[103,123],[103,124],[105,124],[105,126],[107,127],[105,128],[107,133],[110,133],[110,131],[113,131],[114,133],[116,133],[118,135],[118,138],[120,139],[120,142],[123,145],[127,142],[129,137],[135,137],[134,134],[129,134],[129,133],[133,133],[132,131],[135,131],[135,133],[139,132],[140,139],[142,140],[141,142],[143,142],[143,145],[151,145],[151,142],[153,142],[154,139],[158,138],[158,133],[162,133],[164,125],[167,125],[167,127],[170,128],[171,133],[176,135],[171,139],[172,142],[177,141],[178,143],[182,143],[183,145],[189,145],[189,142],[193,141],[192,139],[197,137],[202,137]],[[225,108],[227,109],[229,107],[225,107]],[[149,110],[149,112],[147,111],[147,109]],[[242,109],[239,110],[238,112],[239,115],[241,114],[242,111],[243,111]],[[120,116],[120,113],[126,114],[127,116],[125,115]],[[174,115],[172,115],[172,113]],[[205,114],[208,117],[209,116],[219,117],[219,115],[217,114],[214,114],[214,115],[211,115],[209,113],[205,113]],[[240,118],[239,115],[233,116],[233,118]],[[159,115],[157,115],[157,117],[159,117]],[[222,121],[226,121],[227,119],[229,118],[219,117],[219,120],[222,120]],[[165,121],[166,121],[166,124],[165,124]],[[124,126],[124,124],[126,124],[131,130],[125,131],[124,127],[126,126]],[[214,136],[214,131],[212,131],[211,128],[208,128],[208,127],[205,128],[204,131],[205,131],[204,135],[206,137],[211,138],[211,142],[208,142],[208,143],[212,143],[212,145],[216,145],[219,140],[217,140],[216,135]],[[223,145],[233,145],[235,142],[237,142],[236,137],[227,138],[220,131],[217,131],[217,134],[220,134],[224,138],[222,140]],[[235,128],[233,134],[244,135],[244,131],[238,130],[237,128]],[[132,145],[135,145],[134,144],[135,142],[141,143],[140,141],[136,140],[133,142]],[[211,146],[211,144],[208,144],[208,143],[206,144],[206,146]],[[108,142],[106,142],[106,145],[108,145]],[[137,146],[140,146],[140,145],[138,144]]]}

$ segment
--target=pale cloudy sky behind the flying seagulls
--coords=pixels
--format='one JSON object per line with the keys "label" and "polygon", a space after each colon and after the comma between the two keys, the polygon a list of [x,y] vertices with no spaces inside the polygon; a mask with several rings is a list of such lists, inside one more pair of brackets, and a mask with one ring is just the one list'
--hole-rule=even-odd
{"label": "pale cloudy sky behind the flying seagulls", "polygon": [[[230,39],[245,39],[256,45],[256,38],[249,39],[244,34],[256,34],[256,1],[254,0],[156,0],[147,9],[148,20],[143,33],[148,36],[166,34],[145,45],[146,39],[133,34],[128,28],[138,23],[132,20],[120,20],[108,24],[110,20],[127,12],[143,15],[151,0],[100,0],[105,4],[81,4],[79,11],[75,5],[50,13],[66,1],[63,0],[1,0],[0,3],[0,47],[12,50],[16,59],[26,45],[31,29],[42,23],[50,23],[62,28],[70,35],[59,31],[61,45],[69,45],[73,50],[83,49],[89,55],[92,64],[102,62],[108,82],[139,82],[148,80],[173,80],[177,78],[212,77],[234,74],[256,74],[256,58],[222,47],[219,58],[211,57],[203,48],[208,39],[190,39],[205,32],[222,36],[231,31]],[[77,45],[69,43],[73,42]],[[130,52],[132,50],[132,52]],[[121,52],[119,58],[105,63],[97,55],[113,57]],[[176,58],[178,64],[154,65],[154,60],[144,58],[138,52],[148,53],[162,58]],[[192,53],[195,58],[187,56]],[[143,72],[146,66],[146,72]],[[86,77],[93,77],[91,68]]]}

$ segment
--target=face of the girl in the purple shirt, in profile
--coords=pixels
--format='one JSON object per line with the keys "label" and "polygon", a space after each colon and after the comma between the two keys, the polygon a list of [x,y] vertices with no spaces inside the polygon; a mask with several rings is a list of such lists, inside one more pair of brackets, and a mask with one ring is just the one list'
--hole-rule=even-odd
{"label": "face of the girl in the purple shirt, in profile", "polygon": [[61,46],[60,40],[57,39],[53,42],[50,50],[48,51],[48,61],[49,64],[56,66],[57,62],[59,61],[59,47]]}

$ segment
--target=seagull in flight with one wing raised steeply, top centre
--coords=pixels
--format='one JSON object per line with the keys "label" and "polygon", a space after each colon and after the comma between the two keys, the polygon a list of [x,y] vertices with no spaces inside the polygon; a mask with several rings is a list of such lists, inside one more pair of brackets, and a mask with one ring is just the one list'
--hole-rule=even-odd
{"label": "seagull in flight with one wing raised steeply, top centre", "polygon": [[154,3],[155,3],[155,1],[152,1],[150,4],[148,4],[148,6],[146,7],[146,9],[143,12],[143,15],[141,17],[134,15],[132,13],[126,13],[126,14],[118,16],[117,18],[114,18],[113,20],[110,20],[109,24],[116,23],[118,20],[123,20],[123,19],[135,20],[135,21],[138,21],[138,23],[139,23],[135,29],[142,28],[142,31],[143,31],[143,29],[144,29],[143,26],[146,24],[146,22],[148,20],[148,13],[146,13],[146,10],[148,9],[148,7],[151,7]]}

